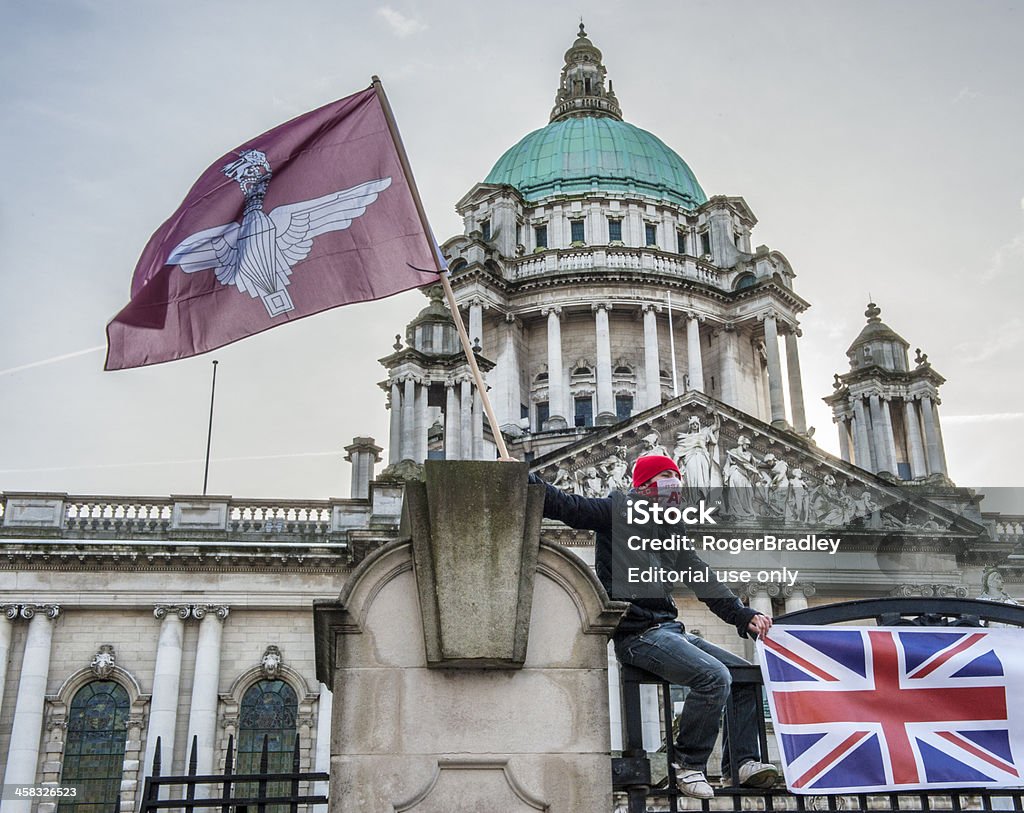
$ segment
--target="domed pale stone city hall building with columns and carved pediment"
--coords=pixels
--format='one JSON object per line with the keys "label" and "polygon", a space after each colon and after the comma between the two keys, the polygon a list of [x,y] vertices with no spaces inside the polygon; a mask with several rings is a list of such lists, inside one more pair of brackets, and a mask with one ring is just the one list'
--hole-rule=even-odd
{"label": "domed pale stone city hall building with columns and carved pediment", "polygon": [[[955,485],[944,379],[874,303],[845,359],[836,348],[833,391],[808,393],[831,406],[841,456],[814,442],[800,372],[810,303],[794,268],[758,245],[742,198],[709,198],[671,146],[624,119],[583,26],[549,123],[457,209],[463,233],[442,249],[499,428],[549,482],[603,497],[653,452],[679,462],[692,494],[721,489],[724,536],[769,521],[851,528],[835,554],[787,558],[798,579],[735,587],[765,612],[1019,591],[1022,517],[986,513]],[[313,600],[397,537],[402,483],[425,460],[496,457],[452,314],[426,294],[381,359],[386,443],[346,447],[350,499],[2,495],[5,784],[76,785],[90,809],[135,810],[158,739],[164,773],[185,770],[194,740],[198,772],[214,772],[228,738],[236,770],[252,770],[264,736],[273,766],[298,742],[303,769],[328,770]],[[553,523],[543,536],[593,561],[589,532]],[[752,655],[692,596],[678,602],[691,631]],[[609,670],[614,683],[613,658]],[[0,807],[37,809],[56,803]]]}

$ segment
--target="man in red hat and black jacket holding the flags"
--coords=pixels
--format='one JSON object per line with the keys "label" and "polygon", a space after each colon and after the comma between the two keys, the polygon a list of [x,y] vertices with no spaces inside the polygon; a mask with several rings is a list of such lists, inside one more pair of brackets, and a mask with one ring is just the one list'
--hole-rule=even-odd
{"label": "man in red hat and black jacket holding the flags", "polygon": [[[616,596],[612,589],[612,519],[615,498],[587,498],[565,494],[544,483],[537,475],[530,481],[546,487],[544,516],[557,519],[573,528],[597,531],[597,576],[612,599],[623,598],[629,608],[615,630],[615,654],[623,664],[638,667],[670,683],[690,689],[683,704],[676,741],[676,783],[679,791],[697,799],[711,799],[715,791],[706,776],[721,726],[722,711],[729,697],[731,676],[728,667],[748,666],[748,661],[702,638],[687,633],[677,619],[678,610],[666,585],[656,597]],[[668,457],[647,455],[633,467],[632,497],[664,500],[674,495],[678,500],[683,483],[679,468]],[[670,498],[671,499],[671,498]],[[618,506],[621,508],[621,506]],[[743,606],[726,585],[718,580],[695,553],[682,554],[683,563],[707,573],[708,582],[694,593],[718,617],[734,626],[740,636],[764,635],[771,627],[768,615]],[[693,590],[693,585],[688,587]],[[739,783],[750,787],[771,787],[778,778],[774,765],[760,761],[757,715],[761,713],[753,686],[737,687],[733,692],[735,730],[733,751],[739,765]],[[722,775],[731,774],[729,732],[722,756]]]}

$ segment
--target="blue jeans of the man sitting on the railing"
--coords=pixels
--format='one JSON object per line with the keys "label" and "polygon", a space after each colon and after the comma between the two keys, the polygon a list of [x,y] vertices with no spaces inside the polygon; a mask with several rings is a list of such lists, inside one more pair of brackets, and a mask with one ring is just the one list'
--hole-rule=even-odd
{"label": "blue jeans of the man sitting on the railing", "polygon": [[[683,631],[679,622],[644,630],[615,640],[620,661],[639,667],[677,686],[688,686],[676,741],[677,762],[686,770],[707,771],[708,757],[715,747],[722,711],[729,697],[732,676],[726,667],[748,666],[743,658],[702,638]],[[760,759],[758,747],[757,692],[754,686],[738,686],[733,692],[736,765]],[[728,776],[729,732],[722,745],[722,775]]]}

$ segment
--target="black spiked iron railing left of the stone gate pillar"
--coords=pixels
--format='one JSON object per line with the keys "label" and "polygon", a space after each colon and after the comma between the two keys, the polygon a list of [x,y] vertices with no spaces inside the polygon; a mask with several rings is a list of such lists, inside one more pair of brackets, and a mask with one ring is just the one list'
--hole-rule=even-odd
{"label": "black spiked iron railing left of the stone gate pillar", "polygon": [[[263,737],[257,773],[234,773],[234,737],[227,738],[224,771],[219,774],[197,774],[197,740],[193,737],[188,757],[188,773],[184,776],[161,776],[160,738],[153,755],[151,774],[142,788],[139,813],[158,810],[207,810],[219,813],[299,813],[299,805],[326,805],[324,795],[308,791],[313,782],[327,782],[324,772],[299,770],[299,741],[292,750],[290,773],[269,772],[267,737]],[[161,793],[164,788],[166,793]],[[287,788],[287,789],[285,789]],[[197,793],[201,798],[197,799]],[[161,797],[164,797],[161,799]]]}

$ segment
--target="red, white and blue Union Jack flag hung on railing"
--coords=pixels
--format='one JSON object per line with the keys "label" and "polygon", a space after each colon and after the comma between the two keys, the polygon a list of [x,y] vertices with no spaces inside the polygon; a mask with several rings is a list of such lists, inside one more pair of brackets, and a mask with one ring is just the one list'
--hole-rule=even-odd
{"label": "red, white and blue Union Jack flag hung on railing", "polygon": [[[796,794],[1024,784],[1024,634],[773,627],[758,642]],[[1014,694],[1011,693],[1011,698]]]}

